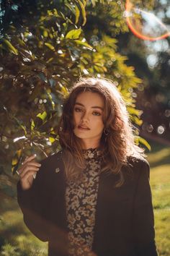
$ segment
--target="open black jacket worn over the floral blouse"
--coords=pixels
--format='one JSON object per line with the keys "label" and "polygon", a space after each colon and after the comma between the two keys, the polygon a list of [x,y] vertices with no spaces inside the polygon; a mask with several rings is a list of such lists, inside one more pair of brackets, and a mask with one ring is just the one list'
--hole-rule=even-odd
{"label": "open black jacket worn over the floral blouse", "polygon": [[[92,246],[97,256],[157,256],[148,162],[129,163],[122,168],[122,187],[115,187],[117,175],[100,174]],[[42,161],[31,189],[17,184],[24,222],[49,242],[49,256],[68,255],[65,191],[62,152]]]}

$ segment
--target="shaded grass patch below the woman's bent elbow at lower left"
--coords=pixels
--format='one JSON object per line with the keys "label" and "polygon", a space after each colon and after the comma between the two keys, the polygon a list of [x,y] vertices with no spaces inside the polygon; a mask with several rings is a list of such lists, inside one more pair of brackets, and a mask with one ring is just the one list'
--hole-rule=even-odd
{"label": "shaded grass patch below the woman's bent elbow at lower left", "polygon": [[48,244],[40,242],[24,225],[17,198],[4,197],[1,200],[0,255],[48,255]]}

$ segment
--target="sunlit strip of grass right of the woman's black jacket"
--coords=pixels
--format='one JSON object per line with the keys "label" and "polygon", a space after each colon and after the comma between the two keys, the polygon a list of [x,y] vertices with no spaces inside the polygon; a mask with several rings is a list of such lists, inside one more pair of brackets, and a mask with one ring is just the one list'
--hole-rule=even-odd
{"label": "sunlit strip of grass right of the woman's black jacket", "polygon": [[155,216],[156,244],[160,256],[170,255],[170,148],[148,154]]}

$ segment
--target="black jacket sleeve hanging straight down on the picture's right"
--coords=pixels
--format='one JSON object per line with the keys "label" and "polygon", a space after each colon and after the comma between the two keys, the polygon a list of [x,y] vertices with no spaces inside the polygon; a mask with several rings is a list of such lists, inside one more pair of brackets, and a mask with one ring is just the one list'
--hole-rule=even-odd
{"label": "black jacket sleeve hanging straight down on the picture's right", "polygon": [[135,191],[133,214],[133,242],[135,256],[157,256],[154,231],[151,187],[149,184],[150,168],[147,161],[142,161],[138,184]]}

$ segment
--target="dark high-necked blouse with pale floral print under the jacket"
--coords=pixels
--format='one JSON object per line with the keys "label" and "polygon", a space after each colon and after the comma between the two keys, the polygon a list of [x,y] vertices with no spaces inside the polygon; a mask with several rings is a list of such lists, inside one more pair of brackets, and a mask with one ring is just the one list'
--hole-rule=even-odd
{"label": "dark high-necked blouse with pale floral print under the jacket", "polygon": [[98,149],[83,150],[86,168],[79,184],[68,182],[66,213],[70,256],[92,256],[94,223],[102,159]]}

